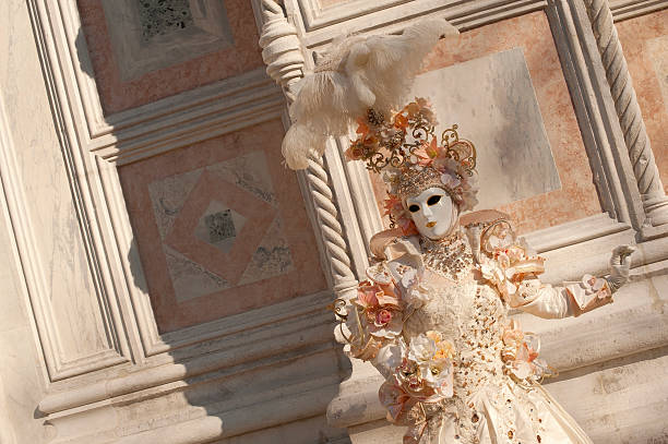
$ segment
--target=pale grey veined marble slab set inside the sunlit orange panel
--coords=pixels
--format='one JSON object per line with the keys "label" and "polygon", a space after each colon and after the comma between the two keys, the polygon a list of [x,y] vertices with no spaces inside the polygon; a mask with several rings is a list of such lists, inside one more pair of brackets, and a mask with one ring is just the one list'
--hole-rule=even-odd
{"label": "pale grey veined marble slab set inside the sunlit orange panel", "polygon": [[561,188],[521,48],[421,74],[414,95],[431,99],[437,133],[456,123],[476,146],[479,208]]}

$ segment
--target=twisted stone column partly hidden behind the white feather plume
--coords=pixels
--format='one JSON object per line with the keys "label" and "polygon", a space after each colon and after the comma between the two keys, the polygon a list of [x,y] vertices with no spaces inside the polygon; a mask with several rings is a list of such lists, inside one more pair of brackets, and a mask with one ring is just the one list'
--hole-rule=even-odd
{"label": "twisted stone column partly hidden behind the white feather plume", "polygon": [[[263,48],[262,59],[267,65],[267,74],[283,87],[290,105],[295,100],[293,86],[303,76],[305,65],[297,29],[288,22],[276,0],[262,0],[262,17],[264,22],[260,37],[260,46]],[[337,297],[347,298],[357,287],[357,280],[350,267],[348,245],[338,221],[338,211],[322,158],[314,156],[309,158],[305,177],[322,232],[334,291]]]}

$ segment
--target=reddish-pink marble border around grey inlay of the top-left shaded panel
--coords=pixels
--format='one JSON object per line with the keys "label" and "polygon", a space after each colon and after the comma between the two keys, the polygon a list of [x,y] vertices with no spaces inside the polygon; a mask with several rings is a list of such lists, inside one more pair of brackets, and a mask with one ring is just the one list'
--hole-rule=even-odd
{"label": "reddish-pink marble border around grey inlay of the top-left shaded panel", "polygon": [[234,47],[148,72],[123,82],[114,57],[102,0],[77,0],[105,115],[172,96],[263,65],[251,3],[226,0]]}

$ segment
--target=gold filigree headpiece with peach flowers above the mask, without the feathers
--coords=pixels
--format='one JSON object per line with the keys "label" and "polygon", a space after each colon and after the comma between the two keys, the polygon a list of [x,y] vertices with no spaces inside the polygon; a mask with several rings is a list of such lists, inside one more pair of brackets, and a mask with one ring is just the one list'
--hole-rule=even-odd
{"label": "gold filigree headpiece with peach flowers above the mask, without the feathers", "polygon": [[477,203],[476,148],[460,139],[456,124],[442,132],[439,143],[436,115],[425,98],[416,98],[391,119],[369,109],[357,122],[359,136],[346,156],[383,172],[390,187],[385,206],[391,219],[406,216],[398,214],[403,209],[397,203],[431,187],[445,190],[461,211]]}

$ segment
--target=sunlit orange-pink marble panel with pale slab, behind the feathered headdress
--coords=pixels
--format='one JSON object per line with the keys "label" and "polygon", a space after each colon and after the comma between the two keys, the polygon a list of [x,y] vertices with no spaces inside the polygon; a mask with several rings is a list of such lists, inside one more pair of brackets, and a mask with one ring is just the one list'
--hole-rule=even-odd
{"label": "sunlit orange-pink marble panel with pale slab, behind the feathered headdress", "polygon": [[[462,76],[466,70],[470,73]],[[433,101],[443,129],[458,123],[461,135],[476,144],[485,175],[476,209],[509,213],[518,232],[601,212],[544,12],[441,40],[425,71],[418,91],[439,97]],[[496,189],[499,178],[503,187]],[[373,180],[381,200],[383,185]]]}

